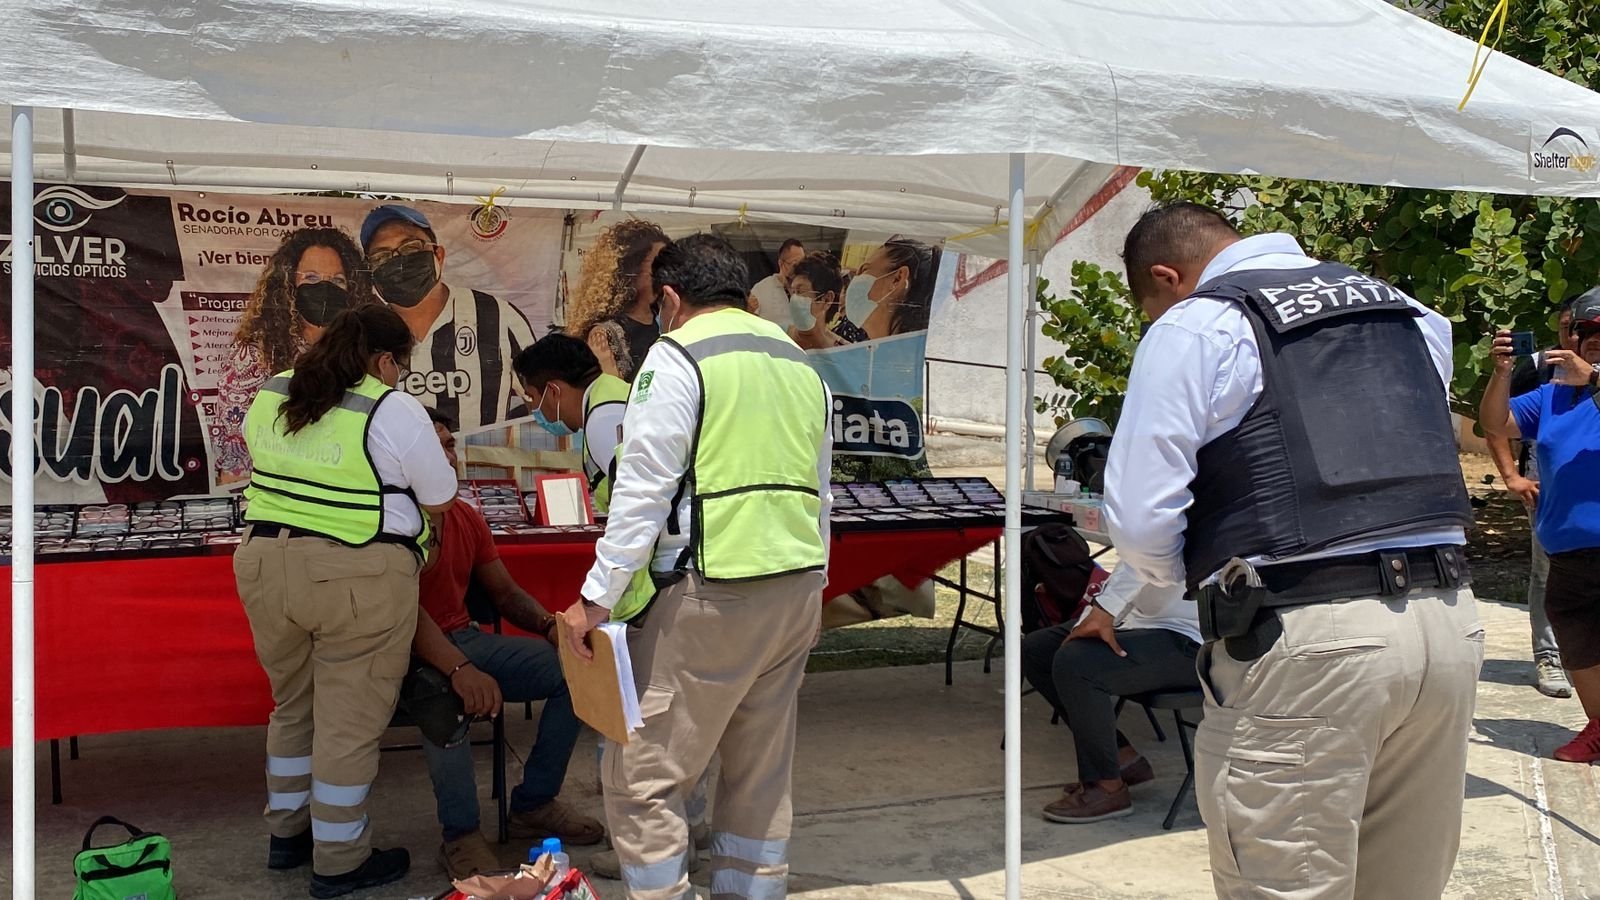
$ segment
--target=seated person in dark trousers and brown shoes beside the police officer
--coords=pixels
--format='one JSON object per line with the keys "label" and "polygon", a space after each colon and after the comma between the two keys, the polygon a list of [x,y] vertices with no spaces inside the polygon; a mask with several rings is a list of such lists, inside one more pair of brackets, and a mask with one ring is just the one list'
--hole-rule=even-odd
{"label": "seated person in dark trousers and brown shoes beside the police officer", "polygon": [[1155,772],[1117,730],[1117,698],[1200,687],[1195,605],[1181,588],[1170,588],[1163,589],[1171,594],[1163,602],[1139,604],[1154,612],[1131,612],[1118,621],[1131,591],[1157,589],[1130,575],[1118,567],[1075,625],[1043,628],[1022,639],[1022,673],[1072,729],[1078,757],[1078,780],[1045,807],[1050,822],[1077,825],[1131,814],[1128,788],[1155,778]]}

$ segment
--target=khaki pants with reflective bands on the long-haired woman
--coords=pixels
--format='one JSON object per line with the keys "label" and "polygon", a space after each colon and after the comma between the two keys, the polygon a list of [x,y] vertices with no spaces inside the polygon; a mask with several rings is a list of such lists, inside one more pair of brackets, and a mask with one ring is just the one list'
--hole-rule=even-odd
{"label": "khaki pants with reflective bands on the long-haired woman", "polygon": [[418,557],[398,544],[254,538],[234,554],[256,657],[272,682],[267,828],[310,828],[318,874],[371,854],[366,793],[416,634]]}

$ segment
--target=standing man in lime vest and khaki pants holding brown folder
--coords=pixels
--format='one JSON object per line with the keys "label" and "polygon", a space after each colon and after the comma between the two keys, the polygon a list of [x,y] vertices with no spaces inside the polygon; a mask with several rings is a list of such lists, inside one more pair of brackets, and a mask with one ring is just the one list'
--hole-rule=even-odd
{"label": "standing man in lime vest and khaki pants holding brown folder", "polygon": [[[722,754],[710,852],[717,897],[784,897],[795,705],[821,626],[830,506],[829,396],[782,328],[746,311],[749,275],[712,235],[654,263],[666,335],[629,400],[611,516],[576,642],[659,593],[629,650],[645,724],[608,743],[611,842],[634,900],[691,897],[685,798]],[[762,447],[752,453],[752,447]]]}

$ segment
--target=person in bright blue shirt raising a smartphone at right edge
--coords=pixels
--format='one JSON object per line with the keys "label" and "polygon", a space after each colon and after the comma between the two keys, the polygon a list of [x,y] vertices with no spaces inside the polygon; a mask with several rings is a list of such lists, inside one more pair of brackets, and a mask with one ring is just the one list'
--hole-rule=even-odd
{"label": "person in bright blue shirt raising a smartphone at right edge", "polygon": [[1494,373],[1480,421],[1491,437],[1534,442],[1541,487],[1534,533],[1550,556],[1544,612],[1555,631],[1589,724],[1555,751],[1566,762],[1600,761],[1600,288],[1573,304],[1576,349],[1544,354],[1546,384],[1510,396],[1510,331],[1494,335]]}

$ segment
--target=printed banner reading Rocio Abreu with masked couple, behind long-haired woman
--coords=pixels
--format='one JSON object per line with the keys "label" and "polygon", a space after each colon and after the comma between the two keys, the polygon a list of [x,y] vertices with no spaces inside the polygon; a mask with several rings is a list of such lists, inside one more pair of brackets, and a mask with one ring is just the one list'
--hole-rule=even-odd
{"label": "printed banner reading Rocio Abreu with masked couple, behind long-haired woman", "polygon": [[[560,211],[46,184],[34,219],[40,503],[237,490],[251,397],[352,296],[406,319],[418,346],[400,388],[496,445],[482,456],[501,474],[557,447],[522,424],[512,357],[550,325]],[[0,234],[6,282],[11,258]],[[10,479],[10,290],[0,309]]]}

